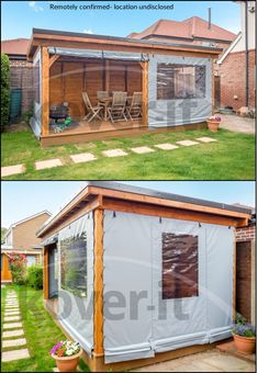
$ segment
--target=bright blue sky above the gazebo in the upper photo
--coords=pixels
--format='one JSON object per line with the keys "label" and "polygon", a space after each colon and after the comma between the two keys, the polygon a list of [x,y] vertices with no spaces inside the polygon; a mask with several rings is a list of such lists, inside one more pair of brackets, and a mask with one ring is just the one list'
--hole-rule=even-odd
{"label": "bright blue sky above the gazebo in the upper photo", "polygon": [[[54,5],[173,4],[172,10],[51,10]],[[233,1],[1,1],[2,39],[31,37],[32,29],[51,29],[127,36],[141,32],[159,19],[181,21],[198,15],[237,33],[240,30],[239,4]]]}

